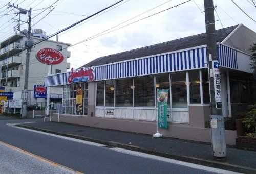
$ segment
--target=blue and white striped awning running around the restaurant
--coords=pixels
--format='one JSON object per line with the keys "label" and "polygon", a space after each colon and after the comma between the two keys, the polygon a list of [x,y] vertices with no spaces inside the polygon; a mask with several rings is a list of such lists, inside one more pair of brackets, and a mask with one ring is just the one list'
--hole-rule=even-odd
{"label": "blue and white striped awning running around the restaurant", "polygon": [[[220,66],[238,69],[237,50],[217,45]],[[206,47],[95,66],[95,81],[207,68]],[[70,72],[45,77],[45,86],[68,84]]]}

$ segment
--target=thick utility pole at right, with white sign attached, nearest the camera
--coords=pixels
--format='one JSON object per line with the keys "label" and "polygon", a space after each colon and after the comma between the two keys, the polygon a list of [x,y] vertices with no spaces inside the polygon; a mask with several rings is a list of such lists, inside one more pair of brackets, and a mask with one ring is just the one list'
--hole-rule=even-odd
{"label": "thick utility pole at right, with white sign attached, nearest the camera", "polygon": [[212,155],[219,160],[226,159],[226,141],[224,117],[222,116],[220,71],[217,55],[216,31],[214,19],[214,3],[212,0],[204,0],[205,29],[207,44],[207,62],[210,86],[211,103],[211,137]]}

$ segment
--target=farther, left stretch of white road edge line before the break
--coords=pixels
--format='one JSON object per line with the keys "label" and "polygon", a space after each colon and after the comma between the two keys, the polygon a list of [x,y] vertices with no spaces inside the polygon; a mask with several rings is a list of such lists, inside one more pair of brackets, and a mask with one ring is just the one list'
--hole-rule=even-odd
{"label": "farther, left stretch of white road edge line before the break", "polygon": [[[17,124],[18,123],[16,123],[15,125],[17,125]],[[76,139],[76,138],[65,137],[65,136],[61,136],[61,135],[56,135],[56,134],[51,134],[51,133],[47,133],[47,132],[36,131],[36,130],[22,128],[22,127],[16,127],[15,125],[9,124],[8,126],[11,126],[13,128],[17,128],[17,129],[23,129],[23,130],[26,130],[26,131],[31,131],[31,132],[39,133],[39,134],[44,134],[44,135],[49,135],[49,136],[53,136],[53,137],[57,137],[57,138],[62,138],[62,139],[70,140],[70,141],[75,141],[75,142],[79,142],[79,143],[83,143],[83,144],[88,144],[88,145],[93,145],[93,146],[105,146],[104,144],[99,144],[99,143],[96,143],[96,142],[91,142],[91,141],[85,141],[85,140],[80,140],[80,139]]]}

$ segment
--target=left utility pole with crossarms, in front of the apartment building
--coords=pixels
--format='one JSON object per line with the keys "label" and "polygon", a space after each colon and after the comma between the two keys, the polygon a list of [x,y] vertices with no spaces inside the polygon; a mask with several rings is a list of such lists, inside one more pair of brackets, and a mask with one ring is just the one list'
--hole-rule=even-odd
{"label": "left utility pole with crossarms, in front of the apartment building", "polygon": [[23,109],[22,109],[22,118],[26,118],[27,116],[27,105],[28,105],[28,79],[29,79],[29,59],[30,59],[30,52],[31,52],[31,46],[33,45],[33,40],[31,39],[31,13],[32,9],[30,8],[29,10],[22,9],[20,7],[14,6],[14,4],[10,5],[8,4],[8,8],[13,7],[19,10],[17,15],[19,14],[19,19],[14,19],[18,22],[18,30],[20,31],[20,14],[27,14],[28,13],[28,22],[22,21],[25,23],[28,23],[28,33],[22,33],[22,34],[27,36],[27,41],[25,41],[25,48],[27,48],[27,53],[26,53],[26,68],[25,68],[25,80],[24,80],[24,100],[23,100]]}

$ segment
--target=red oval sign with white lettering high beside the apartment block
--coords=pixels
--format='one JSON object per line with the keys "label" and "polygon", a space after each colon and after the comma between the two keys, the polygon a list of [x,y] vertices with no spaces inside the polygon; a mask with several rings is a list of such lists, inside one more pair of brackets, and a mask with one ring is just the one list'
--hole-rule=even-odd
{"label": "red oval sign with white lettering high beside the apartment block", "polygon": [[40,49],[36,53],[36,58],[41,63],[47,64],[47,65],[57,65],[64,60],[64,56],[59,51],[52,48]]}

